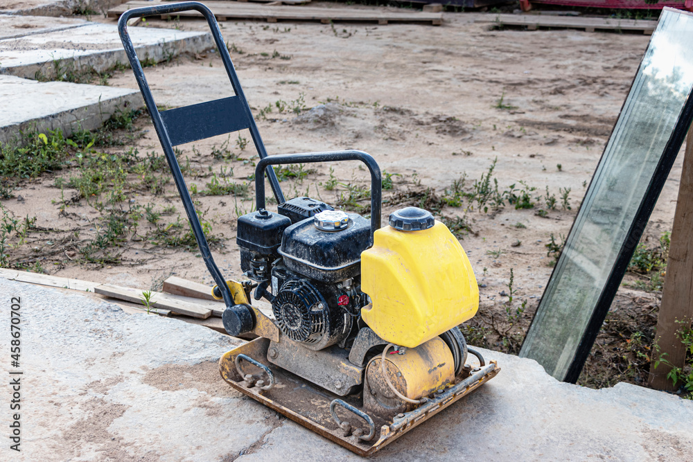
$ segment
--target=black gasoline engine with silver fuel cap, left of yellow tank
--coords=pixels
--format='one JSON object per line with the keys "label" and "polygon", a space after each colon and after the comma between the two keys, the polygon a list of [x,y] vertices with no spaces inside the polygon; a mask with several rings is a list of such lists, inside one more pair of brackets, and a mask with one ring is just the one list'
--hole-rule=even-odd
{"label": "black gasoline engine with silver fuel cap, left of yellow tank", "polygon": [[310,350],[344,346],[367,299],[359,276],[370,224],[309,197],[278,209],[238,219],[240,267],[288,339]]}

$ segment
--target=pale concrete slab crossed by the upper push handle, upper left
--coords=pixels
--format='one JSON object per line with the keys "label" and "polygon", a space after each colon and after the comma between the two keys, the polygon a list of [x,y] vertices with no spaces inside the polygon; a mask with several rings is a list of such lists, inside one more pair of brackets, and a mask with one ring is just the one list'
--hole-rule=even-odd
{"label": "pale concrete slab crossed by the upper push handle, upper left", "polygon": [[[173,29],[130,28],[140,60],[161,62],[179,53],[200,53],[213,46],[211,34]],[[112,24],[87,23],[64,30],[0,39],[0,73],[23,78],[55,78],[73,68],[105,71],[128,63]]]}

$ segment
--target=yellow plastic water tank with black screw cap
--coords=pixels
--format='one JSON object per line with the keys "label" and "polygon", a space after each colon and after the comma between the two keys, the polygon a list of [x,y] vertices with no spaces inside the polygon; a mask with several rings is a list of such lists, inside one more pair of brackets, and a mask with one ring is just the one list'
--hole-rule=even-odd
{"label": "yellow plastic water tank with black screw cap", "polygon": [[[418,223],[406,217],[422,213]],[[399,229],[378,229],[361,254],[361,290],[371,297],[361,317],[382,339],[414,348],[474,317],[479,287],[462,245],[430,213],[407,207],[390,223]]]}

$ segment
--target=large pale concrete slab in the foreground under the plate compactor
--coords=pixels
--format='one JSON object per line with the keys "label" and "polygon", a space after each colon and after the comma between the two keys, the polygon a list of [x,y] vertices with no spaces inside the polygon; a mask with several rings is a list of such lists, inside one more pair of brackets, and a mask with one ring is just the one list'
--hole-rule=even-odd
{"label": "large pale concrete slab in the foreground under the plate compactor", "polygon": [[[5,319],[10,298],[20,299],[19,367],[10,366],[9,322],[0,357],[5,371],[22,372],[21,452],[6,439],[2,460],[359,459],[227,387],[216,359],[230,337],[3,278],[0,294]],[[629,384],[584,389],[530,359],[484,355],[498,360],[498,377],[372,460],[693,461],[693,402]]]}

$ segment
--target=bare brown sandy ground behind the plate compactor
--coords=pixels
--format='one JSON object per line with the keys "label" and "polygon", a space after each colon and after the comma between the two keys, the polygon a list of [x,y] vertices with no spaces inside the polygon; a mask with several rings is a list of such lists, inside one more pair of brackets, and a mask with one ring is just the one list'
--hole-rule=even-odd
{"label": "bare brown sandy ground behind the plate compactor", "polygon": [[[465,212],[469,205],[465,204],[446,206],[437,214],[459,217],[466,213],[473,233],[461,242],[481,285],[482,307],[507,301],[500,292],[507,290],[514,269],[516,297],[529,301],[529,313],[552,271],[545,244],[551,233],[556,237],[568,233],[649,37],[578,30],[489,30],[489,24],[475,24],[476,17],[446,13],[439,27],[228,21],[222,23],[222,33],[254,113],[267,105],[274,107],[266,120],[258,121],[268,152],[347,148],[369,152],[380,168],[396,174],[394,189],[385,191],[385,219],[396,208],[418,204],[426,188],[442,196],[453,181],[466,175],[466,189],[471,189],[494,159],[498,159],[494,175],[500,190],[518,181],[536,188],[533,196],[545,195],[548,188],[558,204],[546,217],[536,215],[543,199],[529,210],[506,204],[489,213],[477,207]],[[148,26],[206,27],[202,21],[191,20],[151,20]],[[158,105],[178,107],[232,94],[217,53],[182,57],[148,68],[146,74]],[[116,73],[109,85],[137,88],[129,69]],[[291,107],[299,98],[306,109],[330,104],[323,112],[278,112],[277,101]],[[512,108],[496,107],[500,98]],[[141,154],[161,153],[155,131],[145,119],[137,127],[148,132],[132,146]],[[247,133],[242,136],[250,139]],[[240,150],[235,136],[229,141],[229,148],[245,161],[216,161],[209,155],[226,139],[194,143],[194,150],[192,145],[180,146],[179,161],[190,157],[194,167],[211,166],[214,172],[233,168],[233,181],[248,181],[254,170],[248,162],[254,155],[252,143]],[[328,167],[318,166],[301,182],[283,181],[285,194],[304,195],[308,190],[309,195],[334,204],[345,187],[326,190],[321,186],[330,179]],[[335,165],[333,174],[343,184],[367,184],[365,170],[354,163]],[[57,175],[67,177],[69,172]],[[680,175],[681,157],[646,231],[651,242],[671,229]],[[60,214],[58,204],[51,204],[51,199],[60,196],[54,181],[47,175],[26,184],[15,191],[22,202],[8,199],[3,204],[19,217],[35,215],[38,226],[79,229],[82,238],[93,235],[99,213],[82,201]],[[189,182],[202,188],[207,181]],[[570,188],[570,210],[561,208],[559,188]],[[416,195],[412,191],[418,192],[419,199],[402,198]],[[66,197],[69,193],[66,189]],[[234,196],[196,199],[212,222],[213,233],[222,236],[223,247],[215,254],[218,265],[227,277],[240,276],[235,222],[252,202]],[[132,193],[130,202],[173,204],[182,213],[171,184],[159,197]],[[121,265],[85,265],[61,251],[42,266],[59,276],[144,289],[172,273],[211,282],[197,252],[149,245],[135,236],[145,231],[143,224],[134,233],[135,240],[123,242]],[[36,242],[47,245],[45,236]],[[623,296],[644,297],[648,303],[656,299],[631,292]]]}

